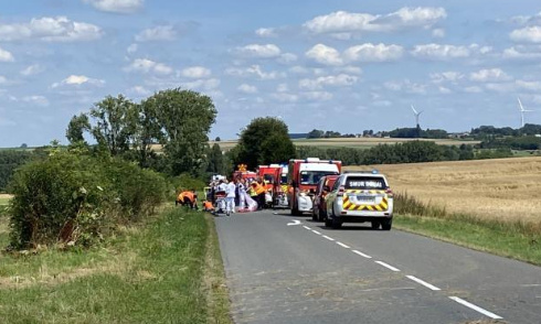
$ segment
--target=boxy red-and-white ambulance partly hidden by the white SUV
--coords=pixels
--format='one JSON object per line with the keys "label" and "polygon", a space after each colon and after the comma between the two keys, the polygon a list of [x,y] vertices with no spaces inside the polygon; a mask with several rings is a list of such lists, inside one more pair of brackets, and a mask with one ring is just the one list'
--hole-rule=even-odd
{"label": "boxy red-and-white ambulance partly hidden by the white SUV", "polygon": [[308,158],[306,160],[289,160],[287,180],[288,203],[291,215],[311,213],[312,197],[321,176],[337,175],[342,170],[341,161],[319,160]]}

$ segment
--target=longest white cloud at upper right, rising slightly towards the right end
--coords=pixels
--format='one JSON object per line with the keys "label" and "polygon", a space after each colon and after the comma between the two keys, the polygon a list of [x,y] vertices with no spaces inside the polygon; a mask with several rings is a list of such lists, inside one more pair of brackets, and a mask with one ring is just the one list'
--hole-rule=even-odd
{"label": "longest white cloud at upper right, rising slightly towards the right end", "polygon": [[337,11],[319,15],[307,21],[303,26],[311,33],[350,33],[350,32],[389,32],[403,28],[428,28],[445,19],[444,8],[402,8],[395,12],[381,15]]}

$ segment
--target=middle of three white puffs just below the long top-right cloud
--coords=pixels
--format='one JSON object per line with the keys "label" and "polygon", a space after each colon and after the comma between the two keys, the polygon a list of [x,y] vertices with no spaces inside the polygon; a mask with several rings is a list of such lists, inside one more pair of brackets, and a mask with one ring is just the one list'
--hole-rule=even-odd
{"label": "middle of three white puffs just below the long top-right cloud", "polygon": [[386,62],[399,60],[403,53],[404,48],[399,45],[367,43],[349,47],[343,57],[349,62]]}

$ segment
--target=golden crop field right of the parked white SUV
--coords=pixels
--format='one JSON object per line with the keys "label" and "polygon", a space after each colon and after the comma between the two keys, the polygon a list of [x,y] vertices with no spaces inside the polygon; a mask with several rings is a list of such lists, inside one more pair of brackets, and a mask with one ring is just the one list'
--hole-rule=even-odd
{"label": "golden crop field right of the parked white SUV", "polygon": [[[447,212],[541,224],[541,158],[371,165],[391,187]],[[349,166],[346,170],[367,170]]]}

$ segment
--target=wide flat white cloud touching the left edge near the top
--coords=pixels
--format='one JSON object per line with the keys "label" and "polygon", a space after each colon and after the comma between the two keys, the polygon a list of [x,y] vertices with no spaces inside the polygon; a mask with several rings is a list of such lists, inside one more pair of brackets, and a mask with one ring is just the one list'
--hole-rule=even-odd
{"label": "wide flat white cloud touching the left edge near the top", "polygon": [[66,17],[34,18],[29,23],[0,24],[0,41],[35,39],[45,42],[94,41],[103,35],[97,25]]}

